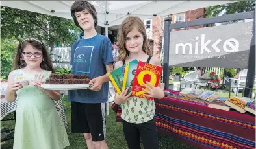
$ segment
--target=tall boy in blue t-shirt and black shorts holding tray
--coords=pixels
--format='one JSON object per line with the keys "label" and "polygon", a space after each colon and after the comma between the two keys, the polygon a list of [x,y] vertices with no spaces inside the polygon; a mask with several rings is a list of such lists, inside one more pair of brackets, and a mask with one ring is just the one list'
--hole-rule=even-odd
{"label": "tall boy in blue t-shirt and black shorts holding tray", "polygon": [[94,84],[90,89],[68,91],[71,101],[71,131],[83,133],[88,148],[108,148],[105,141],[105,102],[108,100],[109,76],[113,70],[112,44],[97,34],[97,12],[88,1],[75,1],[71,6],[75,25],[84,38],[71,48],[71,73],[87,74]]}

